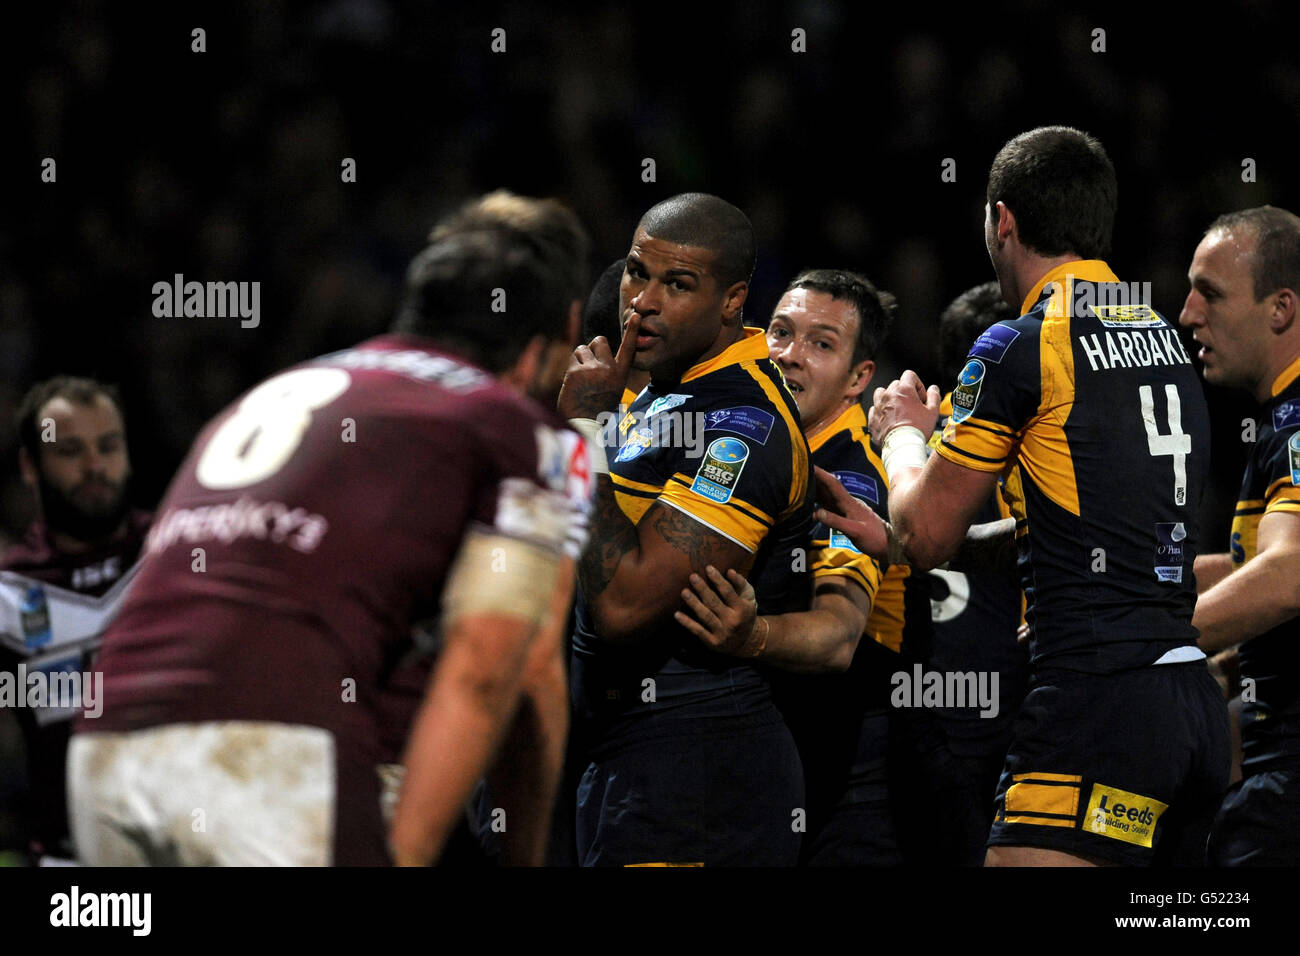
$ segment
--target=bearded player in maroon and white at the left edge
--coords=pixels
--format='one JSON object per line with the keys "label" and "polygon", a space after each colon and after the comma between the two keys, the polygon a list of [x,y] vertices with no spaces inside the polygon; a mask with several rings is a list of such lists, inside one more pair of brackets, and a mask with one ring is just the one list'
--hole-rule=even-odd
{"label": "bearded player in maroon and white at the left edge", "polygon": [[[27,674],[94,670],[99,635],[117,611],[151,515],[131,507],[131,459],[121,402],[92,378],[56,376],[34,385],[17,414],[18,467],[36,497],[38,516],[0,559],[0,598],[23,606],[35,581],[53,585],[49,605],[74,604],[74,630],[0,640],[0,669]],[[81,597],[73,598],[72,594]],[[92,600],[87,600],[92,598]],[[64,615],[60,614],[62,618]],[[69,858],[68,740],[75,708],[17,708],[27,754],[29,792],[20,825],[34,858]]]}

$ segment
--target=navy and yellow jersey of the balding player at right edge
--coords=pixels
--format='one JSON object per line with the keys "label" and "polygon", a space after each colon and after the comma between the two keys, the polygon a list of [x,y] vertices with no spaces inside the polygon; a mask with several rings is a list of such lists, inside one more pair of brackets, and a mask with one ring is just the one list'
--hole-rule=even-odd
{"label": "navy and yellow jersey of the balding player at right edge", "polygon": [[[1232,519],[1232,570],[1256,555],[1266,514],[1300,515],[1300,359],[1273,384],[1245,464]],[[1242,676],[1254,701],[1242,700],[1242,766],[1247,771],[1300,757],[1300,619],[1242,644]]]}

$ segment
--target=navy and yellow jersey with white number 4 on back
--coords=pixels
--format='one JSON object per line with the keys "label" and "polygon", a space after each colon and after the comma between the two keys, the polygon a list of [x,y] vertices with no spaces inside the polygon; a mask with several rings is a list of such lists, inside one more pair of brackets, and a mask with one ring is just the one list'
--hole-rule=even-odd
{"label": "navy and yellow jersey with white number 4 on back", "polygon": [[1174,326],[1126,291],[1100,260],[1044,276],[1023,316],[971,347],[937,447],[1001,472],[1009,501],[1023,502],[1019,566],[1040,674],[1140,667],[1197,636],[1205,397]]}

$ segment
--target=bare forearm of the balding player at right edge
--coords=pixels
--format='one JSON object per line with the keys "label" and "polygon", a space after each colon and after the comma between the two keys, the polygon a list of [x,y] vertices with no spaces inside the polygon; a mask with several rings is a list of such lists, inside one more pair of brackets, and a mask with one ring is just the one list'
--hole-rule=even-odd
{"label": "bare forearm of the balding player at right edge", "polygon": [[1270,550],[1222,579],[1196,601],[1192,624],[1206,654],[1300,615],[1300,551]]}

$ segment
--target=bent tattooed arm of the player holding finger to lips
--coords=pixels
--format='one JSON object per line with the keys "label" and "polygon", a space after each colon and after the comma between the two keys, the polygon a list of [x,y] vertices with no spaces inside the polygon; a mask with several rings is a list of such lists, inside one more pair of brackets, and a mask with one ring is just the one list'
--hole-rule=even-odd
{"label": "bent tattooed arm of the player holding finger to lips", "polygon": [[595,632],[608,641],[642,640],[681,607],[692,572],[749,571],[754,555],[684,511],[656,501],[633,525],[607,475],[597,480],[592,537],[578,566],[582,597]]}

